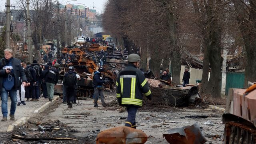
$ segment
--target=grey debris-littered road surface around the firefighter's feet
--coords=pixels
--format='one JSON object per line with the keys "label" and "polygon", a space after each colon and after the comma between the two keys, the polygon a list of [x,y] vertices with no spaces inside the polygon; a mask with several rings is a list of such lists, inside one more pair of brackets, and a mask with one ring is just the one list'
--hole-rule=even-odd
{"label": "grey debris-littered road surface around the firefighter's feet", "polygon": [[[0,133],[0,144],[95,144],[99,132],[115,126],[124,126],[127,112],[115,101],[115,93],[104,93],[107,107],[94,108],[92,99],[80,100],[72,109],[67,108],[57,100],[54,106],[34,117],[24,125],[16,128],[12,133]],[[99,100],[100,101],[100,100]],[[223,105],[222,101],[219,100]],[[207,101],[208,102],[208,101]],[[213,102],[217,102],[213,100]],[[151,106],[144,102],[136,115],[137,129],[143,130],[147,136],[147,144],[168,144],[163,138],[167,130],[189,126],[197,122],[204,135],[206,144],[222,144],[224,125],[222,112],[208,109],[206,106],[170,107]],[[210,125],[204,124],[210,122]],[[40,132],[40,128],[44,132]],[[12,141],[12,134],[30,138],[74,138],[74,140],[33,140],[16,139]]]}

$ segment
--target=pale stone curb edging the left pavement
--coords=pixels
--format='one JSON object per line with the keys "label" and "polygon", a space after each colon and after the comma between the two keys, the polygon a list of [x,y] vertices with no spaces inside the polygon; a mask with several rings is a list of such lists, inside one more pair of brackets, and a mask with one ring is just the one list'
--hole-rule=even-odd
{"label": "pale stone curb edging the left pavement", "polygon": [[[44,110],[46,110],[46,108],[49,108],[50,106],[52,106],[55,103],[55,100],[59,98],[59,96],[54,96],[52,99],[52,102],[46,102],[44,105],[42,105],[40,108],[34,110],[34,113],[40,113],[43,112]],[[10,124],[6,130],[6,132],[12,132],[14,130],[15,127],[17,126],[22,126],[23,124],[25,124],[26,122],[28,122],[30,117],[22,117],[18,120],[16,120],[14,123]]]}

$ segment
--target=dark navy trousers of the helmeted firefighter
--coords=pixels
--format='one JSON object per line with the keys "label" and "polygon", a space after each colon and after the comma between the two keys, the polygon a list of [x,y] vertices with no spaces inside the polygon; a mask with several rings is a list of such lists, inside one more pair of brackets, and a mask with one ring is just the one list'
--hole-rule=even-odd
{"label": "dark navy trousers of the helmeted firefighter", "polygon": [[124,124],[124,126],[128,126],[131,128],[135,128],[136,129],[136,112],[138,110],[138,107],[136,106],[132,106],[132,105],[128,105],[126,106],[127,112],[128,112],[128,116],[127,116],[127,120]]}

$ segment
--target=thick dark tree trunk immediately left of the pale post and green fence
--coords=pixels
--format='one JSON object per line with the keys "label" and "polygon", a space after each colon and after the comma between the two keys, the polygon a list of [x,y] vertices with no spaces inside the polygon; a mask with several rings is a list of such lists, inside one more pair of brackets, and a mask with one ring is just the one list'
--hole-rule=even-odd
{"label": "thick dark tree trunk immediately left of the pale post and green fence", "polygon": [[206,93],[211,93],[212,98],[221,98],[221,36],[222,28],[220,23],[221,12],[217,10],[218,2],[209,0],[206,4],[206,14],[208,16],[206,25],[206,42],[208,41],[208,58],[211,66],[210,80],[207,84]]}

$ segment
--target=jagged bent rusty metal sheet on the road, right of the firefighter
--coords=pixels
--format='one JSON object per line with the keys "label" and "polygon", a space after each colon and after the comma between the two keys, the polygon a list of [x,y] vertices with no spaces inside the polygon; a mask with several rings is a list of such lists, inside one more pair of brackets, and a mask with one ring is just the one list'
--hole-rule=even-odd
{"label": "jagged bent rusty metal sheet on the road, right of the firefighter", "polygon": [[204,144],[207,141],[198,123],[192,126],[174,128],[168,130],[168,133],[164,134],[164,138],[170,144]]}

